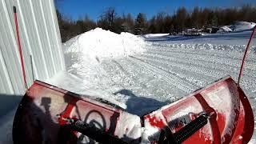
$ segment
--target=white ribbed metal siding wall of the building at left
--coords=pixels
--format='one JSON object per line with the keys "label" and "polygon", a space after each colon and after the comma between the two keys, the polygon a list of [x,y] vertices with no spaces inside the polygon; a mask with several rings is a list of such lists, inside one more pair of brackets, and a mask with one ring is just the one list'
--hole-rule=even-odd
{"label": "white ribbed metal siding wall of the building at left", "polygon": [[54,1],[0,0],[0,94],[24,94],[25,91],[13,6],[17,9],[29,86],[34,79],[45,81],[65,69]]}

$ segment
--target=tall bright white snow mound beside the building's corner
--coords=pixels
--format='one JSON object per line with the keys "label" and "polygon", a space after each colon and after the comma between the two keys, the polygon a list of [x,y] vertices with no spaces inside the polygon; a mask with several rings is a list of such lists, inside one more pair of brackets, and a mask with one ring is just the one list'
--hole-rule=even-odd
{"label": "tall bright white snow mound beside the building's corner", "polygon": [[84,34],[80,34],[64,44],[64,53],[83,54],[90,60],[102,58],[123,57],[130,54],[142,53],[146,42],[134,34],[115,34],[110,30],[96,28]]}

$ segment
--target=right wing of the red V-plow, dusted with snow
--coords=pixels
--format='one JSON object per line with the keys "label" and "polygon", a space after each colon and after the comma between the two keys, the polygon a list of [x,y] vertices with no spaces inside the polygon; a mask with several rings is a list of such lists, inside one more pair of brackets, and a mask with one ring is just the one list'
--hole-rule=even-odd
{"label": "right wing of the red V-plow, dusted with snow", "polygon": [[153,127],[158,131],[169,126],[172,133],[176,133],[198,114],[204,113],[211,114],[208,123],[182,143],[250,141],[254,132],[253,111],[242,89],[230,77],[222,78],[177,102],[163,106],[144,116],[144,121],[146,127],[152,127],[150,131]]}

